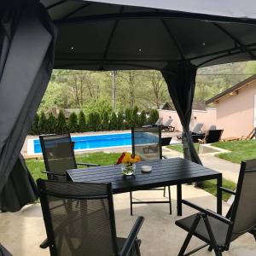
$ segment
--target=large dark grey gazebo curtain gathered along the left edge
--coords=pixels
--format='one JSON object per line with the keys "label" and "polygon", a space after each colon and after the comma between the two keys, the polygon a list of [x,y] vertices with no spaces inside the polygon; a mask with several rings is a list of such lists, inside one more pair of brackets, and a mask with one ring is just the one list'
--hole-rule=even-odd
{"label": "large dark grey gazebo curtain gathered along the left edge", "polygon": [[0,210],[10,212],[37,199],[19,155],[49,83],[56,35],[39,1],[15,2],[0,12]]}

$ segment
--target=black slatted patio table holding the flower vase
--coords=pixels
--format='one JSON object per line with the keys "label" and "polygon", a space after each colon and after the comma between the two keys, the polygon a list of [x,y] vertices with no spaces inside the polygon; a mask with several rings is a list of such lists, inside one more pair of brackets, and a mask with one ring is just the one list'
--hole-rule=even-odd
{"label": "black slatted patio table holding the flower vase", "polygon": [[[143,173],[141,166],[152,166],[152,172]],[[73,182],[112,183],[113,194],[142,189],[177,185],[177,215],[182,215],[182,184],[217,179],[217,212],[222,214],[222,173],[182,158],[145,160],[136,164],[136,172],[123,176],[120,166],[97,166],[67,170],[67,179]]]}

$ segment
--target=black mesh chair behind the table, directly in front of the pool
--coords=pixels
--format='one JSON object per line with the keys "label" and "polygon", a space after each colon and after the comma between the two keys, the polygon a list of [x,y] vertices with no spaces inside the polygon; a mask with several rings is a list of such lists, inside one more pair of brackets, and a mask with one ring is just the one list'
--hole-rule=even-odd
{"label": "black mesh chair behind the table, directly in front of the pool", "polygon": [[[169,140],[170,138],[168,138]],[[171,138],[172,139],[172,138]],[[170,142],[171,142],[170,139]],[[162,145],[161,145],[161,128],[158,127],[141,127],[131,129],[131,144],[132,144],[132,154],[137,154],[142,160],[159,160],[164,158],[162,155]],[[131,215],[133,214],[132,205],[134,204],[153,204],[153,203],[166,203],[169,204],[170,214],[172,214],[172,201],[171,201],[171,189],[168,189],[168,201],[133,201],[132,192],[130,192],[130,205],[131,205]],[[147,189],[150,190],[161,190],[166,197],[166,187],[157,189]]]}

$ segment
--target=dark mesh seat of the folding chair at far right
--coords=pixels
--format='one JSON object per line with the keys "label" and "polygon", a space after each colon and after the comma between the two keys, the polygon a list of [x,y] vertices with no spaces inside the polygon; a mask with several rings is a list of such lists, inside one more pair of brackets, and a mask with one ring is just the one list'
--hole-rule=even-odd
{"label": "dark mesh seat of the folding chair at far right", "polygon": [[[175,224],[177,224],[177,226],[179,226],[183,230],[189,231],[193,222],[195,221],[196,215],[197,213],[187,218],[179,219],[175,222]],[[222,221],[216,218],[208,217],[208,219],[212,228],[213,236],[215,237],[218,246],[219,247],[223,246],[227,237],[229,225],[224,224]],[[210,243],[210,237],[208,235],[206,225],[204,224],[204,221],[202,218],[200,219],[200,222],[196,227],[194,235],[200,238],[201,240],[206,241],[207,243]]]}

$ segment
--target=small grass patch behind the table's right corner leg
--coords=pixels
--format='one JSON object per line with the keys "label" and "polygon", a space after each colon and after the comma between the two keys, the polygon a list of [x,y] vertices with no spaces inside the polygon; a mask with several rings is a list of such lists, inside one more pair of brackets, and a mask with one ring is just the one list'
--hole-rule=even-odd
{"label": "small grass patch behind the table's right corner leg", "polygon": [[[226,188],[226,189],[230,189],[230,190],[235,190],[236,189],[236,183],[233,183],[227,179],[224,179],[222,180],[223,182],[223,187]],[[204,189],[206,190],[208,193],[216,196],[217,195],[217,189],[216,189],[216,179],[214,180],[207,180],[207,181],[204,181],[203,183],[201,183],[199,185],[199,187],[201,189]],[[228,201],[230,198],[230,194],[229,193],[226,193],[226,192],[223,192],[222,193],[222,199],[224,201]]]}

